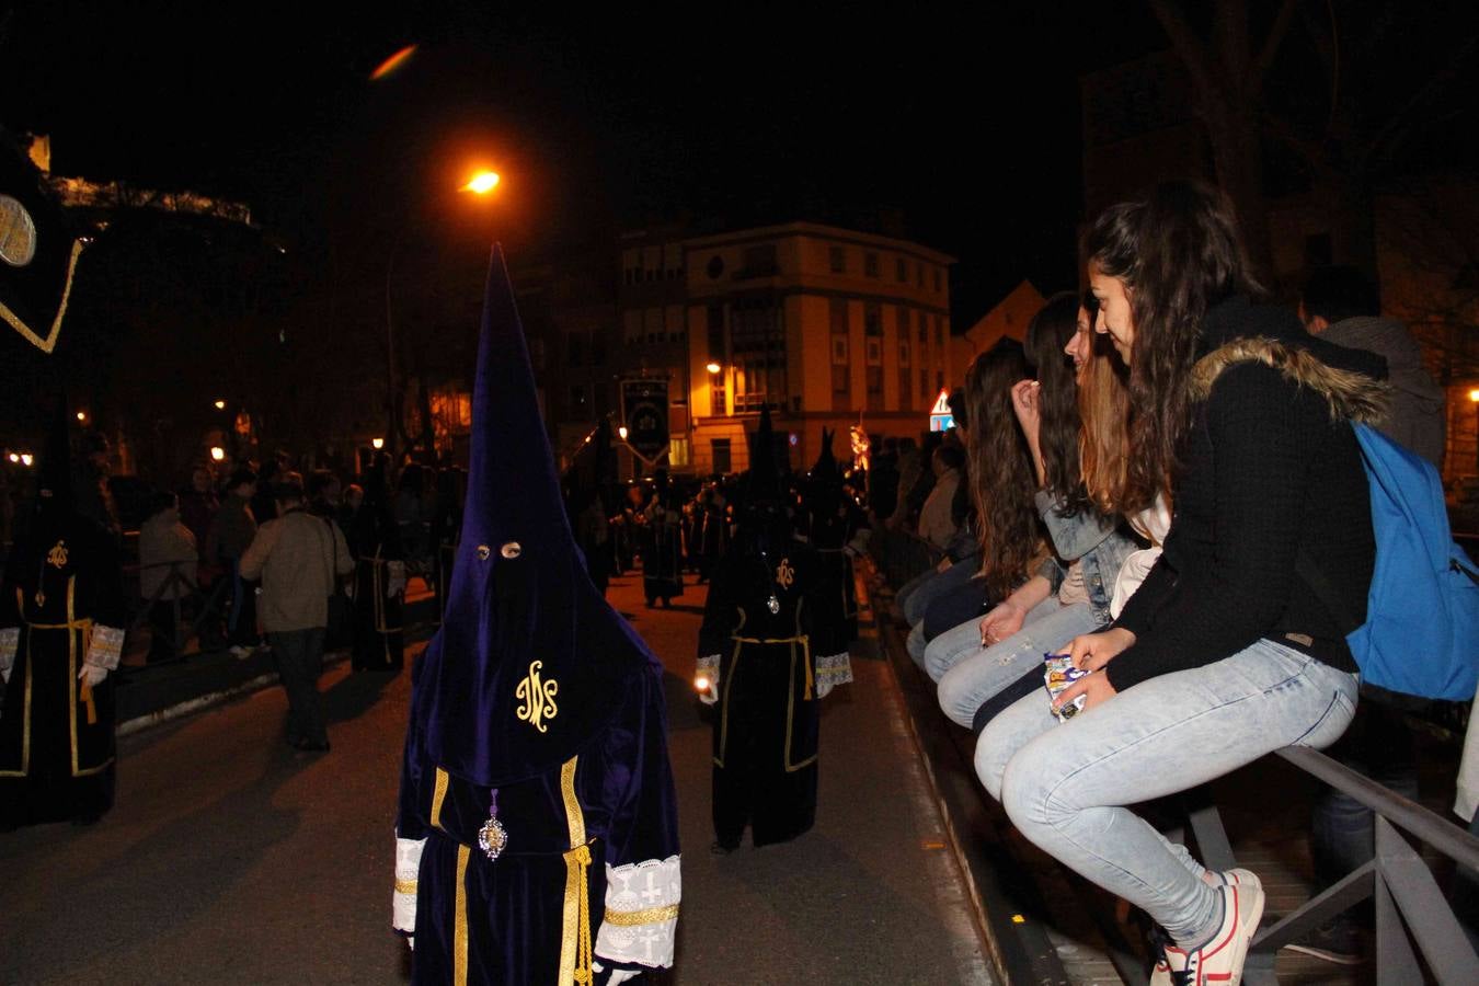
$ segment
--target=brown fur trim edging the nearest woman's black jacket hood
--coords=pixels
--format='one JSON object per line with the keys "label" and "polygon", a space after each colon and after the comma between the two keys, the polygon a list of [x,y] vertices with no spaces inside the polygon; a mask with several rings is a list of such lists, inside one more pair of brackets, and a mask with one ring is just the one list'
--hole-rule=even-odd
{"label": "brown fur trim edging the nearest woman's black jacket hood", "polygon": [[1309,349],[1256,336],[1235,339],[1211,350],[1192,367],[1192,399],[1205,401],[1211,384],[1225,370],[1241,362],[1260,362],[1285,380],[1316,392],[1330,405],[1330,417],[1377,424],[1386,418],[1392,386],[1358,370],[1322,362]]}

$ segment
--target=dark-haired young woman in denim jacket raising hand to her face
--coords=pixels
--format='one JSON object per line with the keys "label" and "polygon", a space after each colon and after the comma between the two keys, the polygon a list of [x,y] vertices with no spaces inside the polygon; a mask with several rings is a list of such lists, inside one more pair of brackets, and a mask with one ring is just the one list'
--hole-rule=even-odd
{"label": "dark-haired young woman in denim jacket raising hand to her face", "polygon": [[1031,449],[1032,506],[1055,557],[985,619],[961,624],[926,647],[924,667],[939,681],[941,708],[961,726],[972,726],[982,704],[1003,689],[1015,695],[1040,689],[1044,653],[1109,621],[1115,575],[1136,548],[1117,529],[1115,514],[1094,507],[1080,476],[1081,418],[1124,414],[1112,371],[1100,378],[1112,355],[1094,355],[1092,340],[1089,309],[1072,293],[1050,299],[1028,327],[1037,378],[1012,387],[1010,427]]}

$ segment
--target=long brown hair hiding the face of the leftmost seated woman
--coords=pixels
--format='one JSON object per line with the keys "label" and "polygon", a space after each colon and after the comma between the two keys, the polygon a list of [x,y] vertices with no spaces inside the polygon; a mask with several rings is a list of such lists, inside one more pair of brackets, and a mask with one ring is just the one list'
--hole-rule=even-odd
{"label": "long brown hair hiding the face of the leftmost seated woman", "polygon": [[1012,384],[1028,375],[1021,343],[1004,339],[966,373],[970,495],[981,525],[981,571],[989,599],[1026,575],[1040,544],[1032,457],[1012,412]]}

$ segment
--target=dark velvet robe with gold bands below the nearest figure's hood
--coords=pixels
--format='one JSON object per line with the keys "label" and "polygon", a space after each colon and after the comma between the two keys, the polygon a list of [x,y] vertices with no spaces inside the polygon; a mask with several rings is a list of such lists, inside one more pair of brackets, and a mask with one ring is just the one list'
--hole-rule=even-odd
{"label": "dark velvet robe with gold bands below the nearest figure's hood", "polygon": [[413,982],[563,986],[593,965],[598,983],[671,965],[682,883],[661,670],[611,701],[615,717],[558,770],[497,789],[497,859],[478,840],[494,789],[407,760],[395,890],[396,911],[414,909]]}

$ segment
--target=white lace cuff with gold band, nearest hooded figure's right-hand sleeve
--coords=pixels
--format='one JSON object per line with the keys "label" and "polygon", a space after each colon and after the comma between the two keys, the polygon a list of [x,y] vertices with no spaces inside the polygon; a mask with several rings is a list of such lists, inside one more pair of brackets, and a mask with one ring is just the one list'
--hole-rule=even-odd
{"label": "white lace cuff with gold band, nearest hooded figure's right-hand sleeve", "polygon": [[670,967],[682,896],[677,856],[608,865],[606,915],[596,933],[596,955],[620,965]]}

